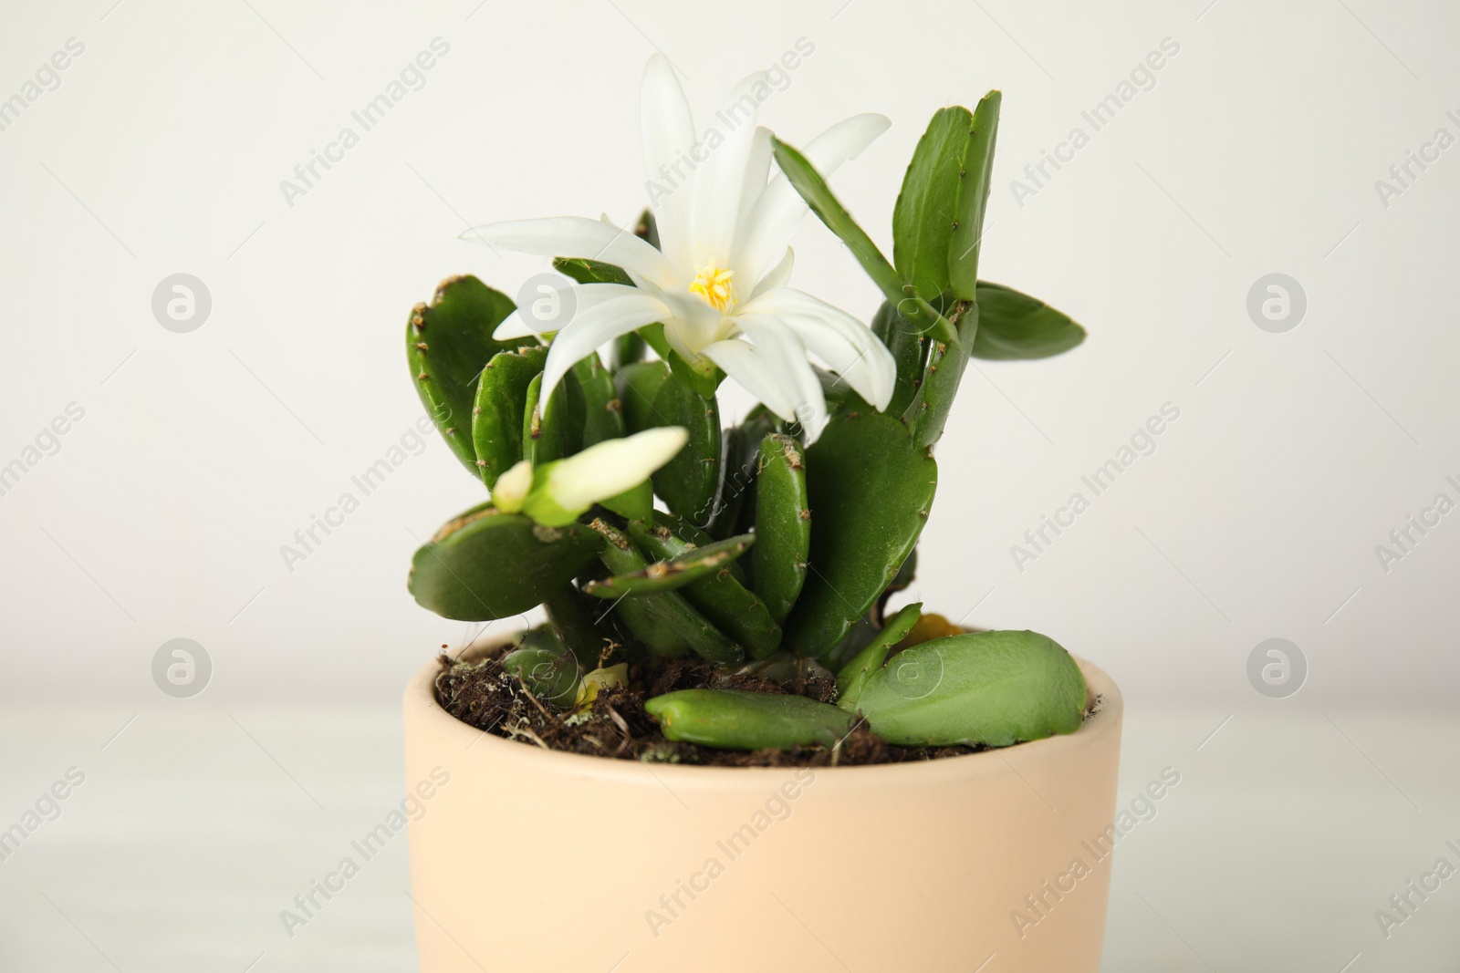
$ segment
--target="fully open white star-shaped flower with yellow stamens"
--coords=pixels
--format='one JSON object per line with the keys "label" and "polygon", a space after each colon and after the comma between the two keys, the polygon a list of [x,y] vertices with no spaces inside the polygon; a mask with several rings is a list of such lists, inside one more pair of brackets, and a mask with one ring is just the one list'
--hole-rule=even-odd
{"label": "fully open white star-shaped flower with yellow stamens", "polygon": [[[644,156],[663,251],[612,223],[575,216],[463,233],[504,249],[618,264],[637,284],[574,284],[577,311],[552,341],[540,401],[594,349],[663,322],[685,360],[718,365],[772,413],[800,422],[809,441],[826,425],[826,403],[807,353],[879,410],[888,406],[896,365],[886,347],[845,311],[785,286],[787,239],[807,207],[784,175],[769,178],[771,133],[755,124],[769,90],[764,73],[740,82],[701,140],[669,61],[650,60]],[[829,174],[888,124],[882,115],[853,115],[807,143],[804,155]],[[495,337],[529,334],[536,334],[530,321],[514,314]]]}

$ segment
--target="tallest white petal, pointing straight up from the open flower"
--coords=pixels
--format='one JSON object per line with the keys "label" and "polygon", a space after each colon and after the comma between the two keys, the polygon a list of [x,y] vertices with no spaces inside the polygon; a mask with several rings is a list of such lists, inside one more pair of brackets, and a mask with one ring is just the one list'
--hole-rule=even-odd
{"label": "tallest white petal, pointing straight up from the open flower", "polygon": [[[685,90],[663,54],[651,57],[644,67],[639,127],[644,137],[644,169],[648,172],[648,198],[658,223],[660,248],[672,264],[688,267],[694,193],[685,185],[691,181],[694,169],[685,172],[683,166],[698,140]],[[680,166],[679,172],[675,171],[676,165]]]}

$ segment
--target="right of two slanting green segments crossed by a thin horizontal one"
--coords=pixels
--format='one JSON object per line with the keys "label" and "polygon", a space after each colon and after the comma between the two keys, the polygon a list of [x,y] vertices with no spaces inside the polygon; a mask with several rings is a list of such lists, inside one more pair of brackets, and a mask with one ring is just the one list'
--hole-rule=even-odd
{"label": "right of two slanting green segments crossed by a thin horizontal one", "polygon": [[[654,512],[654,524],[629,522],[629,535],[654,557],[677,557],[695,546],[708,546],[710,535],[672,513]],[[759,541],[756,541],[759,544]],[[775,623],[765,602],[752,594],[737,576],[740,560],[731,560],[720,570],[692,581],[680,594],[717,629],[745,646],[750,658],[762,659],[781,643],[781,626]]]}

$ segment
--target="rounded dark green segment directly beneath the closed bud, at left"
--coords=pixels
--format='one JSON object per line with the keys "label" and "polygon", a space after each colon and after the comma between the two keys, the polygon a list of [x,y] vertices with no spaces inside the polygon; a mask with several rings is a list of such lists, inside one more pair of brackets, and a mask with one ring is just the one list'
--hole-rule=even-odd
{"label": "rounded dark green segment directly beneath the closed bud, at left", "polygon": [[549,528],[489,505],[447,522],[410,562],[416,602],[447,619],[491,621],[536,608],[593,563],[603,538]]}

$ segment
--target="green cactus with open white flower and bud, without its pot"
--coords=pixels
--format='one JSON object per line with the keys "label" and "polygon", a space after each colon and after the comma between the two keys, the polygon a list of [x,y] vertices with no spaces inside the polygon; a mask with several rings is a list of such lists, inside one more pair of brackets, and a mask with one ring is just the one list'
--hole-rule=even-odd
{"label": "green cactus with open white flower and bud, without its pot", "polygon": [[[466,235],[577,282],[552,330],[474,277],[412,311],[416,387],[492,499],[416,553],[410,591],[472,621],[542,605],[546,624],[477,665],[565,721],[607,719],[594,699],[612,689],[650,696],[664,738],[730,750],[835,747],[863,719],[902,747],[1073,732],[1085,680],[1051,639],[964,632],[920,604],[885,614],[912,579],[969,357],[1085,337],[978,279],[1000,95],[933,115],[889,263],[823,178],[888,121],[848,118],[802,152],[755,125],[755,82],[727,102],[740,124],[699,142],[670,67],[650,63],[653,209],[632,232],[559,217]],[[870,327],[787,286],[807,207],[885,295]],[[733,426],[727,376],[761,403]],[[653,694],[641,672],[663,659],[712,667]],[[818,677],[834,689],[802,691]]]}

